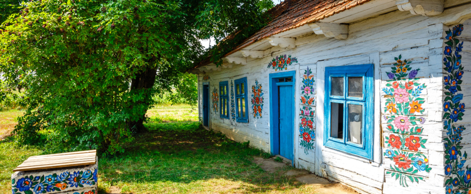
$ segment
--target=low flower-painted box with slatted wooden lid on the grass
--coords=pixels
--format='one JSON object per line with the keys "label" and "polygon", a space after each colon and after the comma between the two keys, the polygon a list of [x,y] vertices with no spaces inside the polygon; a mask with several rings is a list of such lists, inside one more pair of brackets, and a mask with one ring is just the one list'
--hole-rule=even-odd
{"label": "low flower-painted box with slatted wooden lid on the grass", "polygon": [[97,193],[97,150],[31,156],[13,171],[14,194]]}

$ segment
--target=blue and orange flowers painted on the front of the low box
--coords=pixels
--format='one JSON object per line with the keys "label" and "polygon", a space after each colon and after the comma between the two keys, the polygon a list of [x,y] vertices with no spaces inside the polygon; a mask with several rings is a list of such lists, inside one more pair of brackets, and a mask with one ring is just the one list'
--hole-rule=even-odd
{"label": "blue and orange flowers painted on the front of the low box", "polygon": [[[12,194],[45,194],[48,192],[61,191],[69,187],[92,186],[97,183],[97,169],[94,172],[74,171],[47,176],[25,176],[18,180],[12,179]],[[92,193],[90,193],[92,192]],[[89,191],[94,194],[95,190]],[[83,194],[83,192],[82,192]]]}

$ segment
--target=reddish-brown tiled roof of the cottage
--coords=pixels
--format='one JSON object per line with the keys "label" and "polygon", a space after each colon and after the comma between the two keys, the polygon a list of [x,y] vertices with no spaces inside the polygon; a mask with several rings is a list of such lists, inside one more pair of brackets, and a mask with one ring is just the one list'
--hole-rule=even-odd
{"label": "reddish-brown tiled roof of the cottage", "polygon": [[[233,54],[259,40],[266,39],[284,31],[298,28],[307,23],[317,22],[371,0],[284,0],[268,10],[273,18],[267,26],[257,31],[242,44],[225,56]],[[200,65],[209,61],[201,62]]]}

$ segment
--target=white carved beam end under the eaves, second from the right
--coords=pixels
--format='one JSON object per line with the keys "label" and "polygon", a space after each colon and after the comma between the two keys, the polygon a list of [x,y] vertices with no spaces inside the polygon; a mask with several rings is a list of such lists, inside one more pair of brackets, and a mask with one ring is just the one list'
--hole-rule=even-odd
{"label": "white carved beam end under the eaves, second from the right", "polygon": [[338,40],[347,39],[349,36],[349,25],[340,23],[309,23],[314,33],[324,34],[327,38],[335,38]]}

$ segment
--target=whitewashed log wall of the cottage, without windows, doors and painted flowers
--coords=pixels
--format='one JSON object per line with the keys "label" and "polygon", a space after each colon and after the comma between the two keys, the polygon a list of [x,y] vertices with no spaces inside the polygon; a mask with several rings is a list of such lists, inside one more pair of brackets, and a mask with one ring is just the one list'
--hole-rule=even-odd
{"label": "whitewashed log wall of the cottage, without windows, doors and painted flowers", "polygon": [[[448,2],[448,1],[447,1]],[[459,5],[454,5],[455,12],[466,10]],[[464,5],[468,6],[468,5]],[[469,9],[469,8],[468,8]],[[447,12],[448,13],[448,12]],[[442,18],[442,19],[440,19]],[[206,73],[209,80],[203,81],[203,75],[199,75],[199,104],[200,117],[203,115],[202,87],[203,82],[210,83],[210,93],[213,88],[219,87],[220,81],[228,81],[229,88],[231,81],[238,78],[247,77],[248,80],[248,103],[249,103],[249,123],[237,123],[231,118],[223,119],[219,117],[220,105],[218,111],[211,109],[210,128],[223,132],[232,140],[239,142],[250,141],[250,145],[269,151],[270,149],[270,130],[269,130],[269,80],[270,73],[278,71],[267,68],[267,65],[277,55],[292,55],[296,57],[298,63],[288,66],[287,70],[297,71],[296,77],[296,96],[295,110],[299,114],[295,116],[294,137],[295,137],[295,165],[299,168],[307,169],[317,175],[343,182],[353,186],[360,193],[368,194],[445,194],[444,171],[444,144],[443,138],[446,132],[443,130],[443,49],[446,34],[445,30],[449,26],[444,25],[446,16],[427,17],[414,16],[410,12],[393,11],[380,16],[365,19],[360,22],[349,24],[349,37],[346,40],[329,39],[324,35],[309,34],[296,39],[296,48],[281,49],[281,47],[271,48],[272,56],[266,56],[262,59],[247,58],[246,65],[233,65],[232,68],[224,68],[220,71]],[[460,39],[464,41],[462,52],[463,63],[466,67],[471,62],[471,25],[465,23],[465,32]],[[420,116],[425,119],[423,124],[418,124],[423,128],[422,134],[418,135],[426,139],[424,143],[426,148],[419,148],[416,153],[422,153],[428,161],[430,172],[419,171],[416,176],[423,180],[411,183],[408,186],[400,186],[399,180],[395,176],[386,174],[390,171],[390,166],[394,162],[384,156],[384,151],[388,149],[388,143],[385,137],[390,135],[387,129],[387,122],[383,116],[389,116],[386,112],[386,100],[390,98],[382,88],[387,87],[387,72],[395,63],[395,57],[399,55],[402,59],[410,61],[412,70],[420,68],[416,78],[419,84],[425,84],[427,87],[422,90],[421,97],[424,98],[422,113],[416,113],[414,116]],[[375,123],[374,123],[374,159],[367,160],[354,155],[349,155],[336,151],[323,145],[324,129],[324,74],[326,66],[350,65],[350,64],[374,64],[375,76]],[[300,146],[302,136],[299,132],[300,109],[303,104],[300,102],[302,91],[302,79],[304,71],[309,67],[312,71],[314,84],[314,93],[310,96],[316,100],[309,106],[315,111],[313,116],[315,120],[315,149],[304,152],[304,147]],[[471,104],[471,68],[466,67],[466,75],[463,78],[464,103]],[[251,110],[250,90],[255,85],[255,80],[262,85],[264,93],[264,106],[262,118],[253,118]],[[218,88],[219,91],[219,88]],[[229,92],[230,94],[230,92]],[[229,95],[230,96],[230,95]],[[230,97],[229,97],[230,98]],[[230,102],[230,99],[229,99]],[[211,104],[211,100],[210,100]],[[230,108],[229,108],[230,109]],[[470,111],[466,108],[466,113]],[[412,115],[410,115],[412,116]],[[463,120],[458,124],[464,125],[469,130],[463,132],[463,150],[471,153],[471,113],[465,114]],[[410,151],[410,150],[409,150]],[[412,165],[412,164],[411,164]],[[471,166],[471,160],[465,165]]]}

